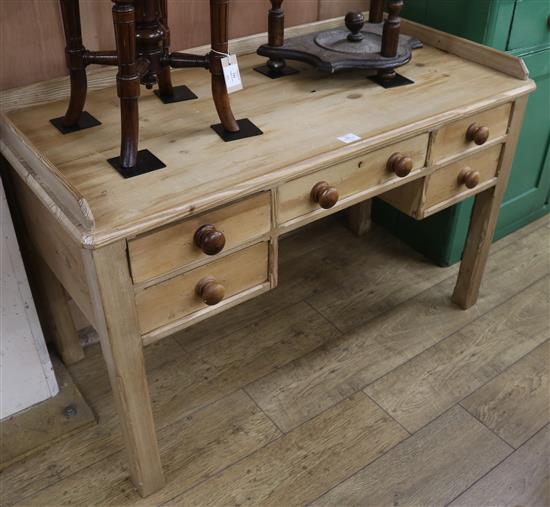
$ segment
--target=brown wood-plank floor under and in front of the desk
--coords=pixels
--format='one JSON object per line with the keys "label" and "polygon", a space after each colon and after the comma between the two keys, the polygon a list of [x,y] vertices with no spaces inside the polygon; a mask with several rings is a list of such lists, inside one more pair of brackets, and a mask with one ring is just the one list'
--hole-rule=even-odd
{"label": "brown wood-plank floor under and in front of the desk", "polygon": [[1,505],[550,505],[550,220],[495,243],[479,303],[374,226],[281,242],[280,285],[146,349],[166,487],[139,497],[97,346],[99,423],[1,474]]}

